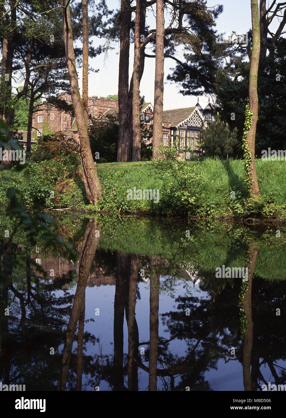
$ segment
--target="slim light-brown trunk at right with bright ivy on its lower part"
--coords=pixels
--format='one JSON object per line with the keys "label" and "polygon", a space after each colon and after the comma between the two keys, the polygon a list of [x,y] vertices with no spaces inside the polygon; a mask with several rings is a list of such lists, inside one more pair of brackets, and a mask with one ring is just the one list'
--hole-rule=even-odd
{"label": "slim light-brown trunk at right with bright ivy on its lower part", "polygon": [[257,93],[257,79],[258,66],[260,58],[260,26],[259,26],[259,10],[258,0],[251,0],[251,20],[252,20],[252,34],[253,47],[250,59],[250,75],[249,75],[249,102],[250,112],[253,113],[253,119],[250,130],[247,133],[247,145],[251,153],[251,176],[252,176],[252,194],[260,196],[257,174],[255,169],[255,135],[256,125],[258,120],[258,93]]}

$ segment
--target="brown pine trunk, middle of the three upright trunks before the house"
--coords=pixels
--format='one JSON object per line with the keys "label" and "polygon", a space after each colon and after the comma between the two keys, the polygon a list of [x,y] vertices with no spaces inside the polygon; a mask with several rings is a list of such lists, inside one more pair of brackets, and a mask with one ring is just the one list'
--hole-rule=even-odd
{"label": "brown pine trunk, middle of the three upright trunks before the house", "polygon": [[136,16],[134,30],[134,67],[132,92],[132,159],[140,161],[140,102],[139,102],[139,72],[140,72],[140,8],[141,1],[136,0]]}

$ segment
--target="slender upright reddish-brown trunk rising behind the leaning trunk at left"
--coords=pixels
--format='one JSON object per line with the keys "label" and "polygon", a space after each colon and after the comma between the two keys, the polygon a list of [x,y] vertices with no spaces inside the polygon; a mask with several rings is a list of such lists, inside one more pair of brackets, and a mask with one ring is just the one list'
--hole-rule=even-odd
{"label": "slender upright reddish-brown trunk rising behind the leaning trunk at left", "polygon": [[82,108],[88,127],[88,0],[82,0]]}

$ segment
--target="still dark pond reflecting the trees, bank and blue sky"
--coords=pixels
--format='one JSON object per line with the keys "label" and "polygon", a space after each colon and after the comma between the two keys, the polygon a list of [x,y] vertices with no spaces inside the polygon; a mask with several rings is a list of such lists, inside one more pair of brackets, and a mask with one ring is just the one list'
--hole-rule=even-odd
{"label": "still dark pond reflecting the trees, bank and blue sky", "polygon": [[56,217],[77,261],[40,239],[29,246],[21,231],[2,255],[2,385],[257,391],[286,383],[285,226]]}

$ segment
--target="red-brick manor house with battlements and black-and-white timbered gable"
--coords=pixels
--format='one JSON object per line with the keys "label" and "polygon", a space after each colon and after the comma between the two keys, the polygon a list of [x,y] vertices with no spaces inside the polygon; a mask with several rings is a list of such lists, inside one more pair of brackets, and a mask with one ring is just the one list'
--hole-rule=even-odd
{"label": "red-brick manor house with battlements and black-and-white timbered gable", "polygon": [[[68,92],[59,95],[59,98],[72,104],[71,96]],[[118,113],[118,100],[106,99],[104,97],[92,96],[88,98],[88,110],[92,117],[104,117]],[[153,124],[152,103],[143,103],[140,106],[141,119],[146,127]],[[207,104],[203,109],[199,103],[194,107],[183,107],[163,111],[163,143],[172,145],[174,140],[178,140],[180,149],[184,150],[191,146],[194,151],[199,150],[198,134],[212,119],[212,106]],[[44,134],[44,131],[62,132],[69,137],[78,140],[77,124],[75,117],[70,113],[60,110],[48,102],[41,102],[36,105],[33,113],[33,128],[31,142],[36,143],[36,139]],[[26,147],[26,132],[18,132],[23,138],[19,139]],[[152,138],[147,140],[152,142]]]}

